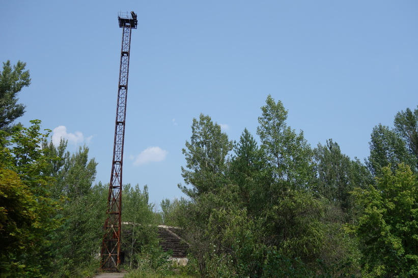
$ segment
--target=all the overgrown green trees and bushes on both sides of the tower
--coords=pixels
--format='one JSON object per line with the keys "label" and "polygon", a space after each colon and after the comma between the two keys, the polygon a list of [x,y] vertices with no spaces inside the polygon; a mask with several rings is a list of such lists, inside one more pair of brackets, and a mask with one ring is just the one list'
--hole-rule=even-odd
{"label": "all the overgrown green trees and bushes on both sides of the tower", "polygon": [[[106,184],[89,149],[54,145],[39,120],[23,127],[19,62],[0,73],[0,275],[86,277],[99,266]],[[123,188],[128,277],[405,277],[418,273],[418,109],[376,126],[365,164],[332,139],[312,148],[267,97],[257,141],[232,141],[210,116],[193,119],[181,168],[187,199],[149,203]],[[189,263],[173,268],[156,225],[183,228]]]}

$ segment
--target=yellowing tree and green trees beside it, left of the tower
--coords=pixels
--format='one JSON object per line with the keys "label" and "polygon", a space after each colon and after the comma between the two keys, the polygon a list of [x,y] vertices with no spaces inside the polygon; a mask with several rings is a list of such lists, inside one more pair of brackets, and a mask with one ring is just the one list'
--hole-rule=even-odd
{"label": "yellowing tree and green trees beside it, left of the tower", "polygon": [[58,147],[47,143],[40,121],[31,122],[28,128],[15,126],[11,133],[1,133],[4,190],[8,184],[15,194],[5,194],[1,206],[7,205],[8,217],[20,215],[19,221],[2,225],[19,231],[15,240],[21,241],[11,246],[2,266],[22,276],[82,276],[83,269],[98,265],[106,191],[91,188],[96,163],[88,161],[87,147],[70,155],[66,142]]}

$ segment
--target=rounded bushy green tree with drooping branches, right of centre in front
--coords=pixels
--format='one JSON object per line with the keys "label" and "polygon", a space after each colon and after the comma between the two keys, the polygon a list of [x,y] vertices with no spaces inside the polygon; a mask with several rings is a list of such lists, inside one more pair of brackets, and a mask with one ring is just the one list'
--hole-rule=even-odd
{"label": "rounded bushy green tree with drooping branches, right of centre in front", "polygon": [[[344,235],[336,217],[329,213],[324,199],[315,198],[309,192],[287,190],[265,208],[264,229],[271,235],[270,245],[277,247],[288,258],[299,258],[307,266],[314,267],[316,259],[327,262],[347,259],[350,253],[339,246]],[[332,211],[331,211],[332,212]],[[336,252],[341,250],[342,252]],[[345,253],[341,255],[341,253]]]}

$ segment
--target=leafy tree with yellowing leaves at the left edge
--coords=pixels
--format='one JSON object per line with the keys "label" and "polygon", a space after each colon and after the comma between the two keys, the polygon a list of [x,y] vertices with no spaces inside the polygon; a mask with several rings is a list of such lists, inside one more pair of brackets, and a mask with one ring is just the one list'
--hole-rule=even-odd
{"label": "leafy tree with yellowing leaves at the left edge", "polygon": [[[16,246],[13,240],[23,242],[17,243],[18,248],[9,249],[8,256],[3,257],[1,267],[6,276],[10,274],[8,271],[27,276],[41,275],[44,270],[37,257],[41,256],[43,246],[48,244],[51,232],[61,223],[60,218],[53,217],[61,210],[61,203],[49,196],[53,180],[44,175],[52,158],[47,157],[39,147],[48,133],[40,132],[39,120],[31,122],[29,128],[15,126],[11,133],[0,131],[0,168],[3,169],[2,188],[6,191],[2,190],[5,199],[0,206],[6,217],[11,217],[5,225],[2,224],[2,229],[12,231],[12,234],[9,233],[11,246]],[[14,191],[13,194],[11,191]],[[13,269],[14,266],[19,267]]]}

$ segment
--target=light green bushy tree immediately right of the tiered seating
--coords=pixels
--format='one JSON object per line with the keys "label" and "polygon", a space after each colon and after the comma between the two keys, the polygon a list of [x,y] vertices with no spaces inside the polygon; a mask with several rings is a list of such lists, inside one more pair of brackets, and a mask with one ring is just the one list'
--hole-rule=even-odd
{"label": "light green bushy tree immediately right of the tiered seating", "polygon": [[[187,206],[185,232],[190,244],[189,254],[196,259],[204,275],[230,276],[232,273],[255,271],[253,266],[256,245],[250,242],[256,237],[255,224],[247,218],[246,210],[237,206],[238,188],[228,186],[216,194],[208,192],[197,203]],[[247,249],[244,254],[240,250]],[[248,256],[247,256],[248,255]]]}

